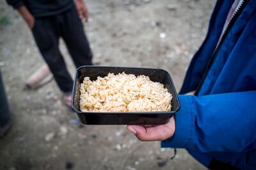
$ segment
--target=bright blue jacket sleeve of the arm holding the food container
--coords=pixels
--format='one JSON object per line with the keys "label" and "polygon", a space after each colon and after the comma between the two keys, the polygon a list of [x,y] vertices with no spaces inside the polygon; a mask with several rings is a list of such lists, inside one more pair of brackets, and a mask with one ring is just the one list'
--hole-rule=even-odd
{"label": "bright blue jacket sleeve of the arm holding the food container", "polygon": [[196,97],[179,95],[175,134],[162,147],[202,153],[256,148],[256,91]]}

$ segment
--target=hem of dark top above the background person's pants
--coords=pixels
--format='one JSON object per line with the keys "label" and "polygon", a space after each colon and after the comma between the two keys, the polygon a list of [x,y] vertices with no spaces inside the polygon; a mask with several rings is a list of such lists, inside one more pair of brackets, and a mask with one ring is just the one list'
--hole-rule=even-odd
{"label": "hem of dark top above the background person's pants", "polygon": [[74,5],[73,0],[6,0],[17,9],[25,5],[34,17],[47,17],[65,12]]}

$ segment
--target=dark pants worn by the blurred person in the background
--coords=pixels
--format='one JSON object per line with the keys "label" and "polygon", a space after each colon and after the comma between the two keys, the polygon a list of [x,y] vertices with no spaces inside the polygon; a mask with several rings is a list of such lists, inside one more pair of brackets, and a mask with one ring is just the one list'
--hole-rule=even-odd
{"label": "dark pants worn by the blurred person in the background", "polygon": [[36,18],[32,32],[61,91],[72,91],[73,81],[59,50],[60,37],[65,41],[77,68],[92,65],[92,52],[76,7],[73,6],[66,12],[51,17]]}

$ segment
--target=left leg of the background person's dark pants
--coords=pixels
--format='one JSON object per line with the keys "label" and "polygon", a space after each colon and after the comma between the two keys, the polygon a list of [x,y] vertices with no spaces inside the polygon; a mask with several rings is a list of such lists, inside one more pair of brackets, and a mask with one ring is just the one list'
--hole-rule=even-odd
{"label": "left leg of the background person's dark pants", "polygon": [[60,27],[54,17],[36,19],[32,29],[38,49],[49,66],[61,91],[72,91],[72,78],[70,77],[63,56],[59,50]]}

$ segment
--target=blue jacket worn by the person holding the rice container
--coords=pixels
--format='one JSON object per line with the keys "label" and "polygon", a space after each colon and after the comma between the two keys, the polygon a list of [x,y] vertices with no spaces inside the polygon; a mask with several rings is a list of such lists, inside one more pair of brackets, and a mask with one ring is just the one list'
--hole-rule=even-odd
{"label": "blue jacket worn by the person holding the rice container", "polygon": [[234,1],[218,1],[207,36],[192,59],[180,90],[176,129],[162,147],[186,148],[205,166],[212,159],[256,169],[256,1],[248,1],[198,86]]}

